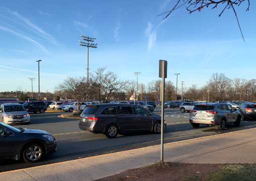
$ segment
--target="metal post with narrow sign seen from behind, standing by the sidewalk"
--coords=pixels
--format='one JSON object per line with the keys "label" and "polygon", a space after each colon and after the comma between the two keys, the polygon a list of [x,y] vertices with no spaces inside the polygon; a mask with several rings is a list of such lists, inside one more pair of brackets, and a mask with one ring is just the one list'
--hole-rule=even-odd
{"label": "metal post with narrow sign seen from behind, standing by the sidewalk", "polygon": [[161,161],[163,161],[163,130],[164,130],[164,86],[167,78],[167,61],[159,60],[159,78],[162,78],[162,103],[161,103]]}

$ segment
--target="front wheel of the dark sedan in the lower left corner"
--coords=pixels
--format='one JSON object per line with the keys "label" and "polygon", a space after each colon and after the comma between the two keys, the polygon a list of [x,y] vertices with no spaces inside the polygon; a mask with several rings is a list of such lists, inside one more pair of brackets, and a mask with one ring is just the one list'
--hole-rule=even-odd
{"label": "front wheel of the dark sedan in the lower left corner", "polygon": [[28,163],[40,160],[44,154],[41,144],[29,143],[23,150],[23,159]]}

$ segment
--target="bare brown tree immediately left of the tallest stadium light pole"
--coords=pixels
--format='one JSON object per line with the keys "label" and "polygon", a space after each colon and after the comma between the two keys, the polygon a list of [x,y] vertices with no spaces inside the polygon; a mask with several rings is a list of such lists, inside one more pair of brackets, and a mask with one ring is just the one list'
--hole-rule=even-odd
{"label": "bare brown tree immediately left of the tallest stadium light pole", "polygon": [[[72,95],[77,101],[77,110],[81,104],[87,101],[87,79],[86,77],[67,77],[62,83],[55,88],[60,92]],[[90,85],[90,84],[89,84]]]}

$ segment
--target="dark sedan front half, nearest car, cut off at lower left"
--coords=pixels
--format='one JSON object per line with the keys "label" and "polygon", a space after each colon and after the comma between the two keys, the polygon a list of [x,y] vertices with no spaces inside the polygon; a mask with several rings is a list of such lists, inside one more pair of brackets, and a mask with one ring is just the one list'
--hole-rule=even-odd
{"label": "dark sedan front half, nearest car, cut off at lower left", "polygon": [[0,145],[0,160],[24,159],[33,163],[56,151],[56,140],[50,133],[3,122],[0,122]]}

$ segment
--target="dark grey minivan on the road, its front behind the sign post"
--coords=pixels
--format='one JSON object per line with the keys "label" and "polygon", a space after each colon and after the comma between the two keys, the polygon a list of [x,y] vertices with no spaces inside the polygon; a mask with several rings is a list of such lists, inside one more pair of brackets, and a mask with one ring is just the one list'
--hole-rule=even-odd
{"label": "dark grey minivan on the road, its front behind the sign post", "polygon": [[[161,116],[134,104],[87,105],[80,115],[79,128],[114,138],[118,133],[151,131],[161,133]],[[164,130],[166,123],[164,121]]]}

